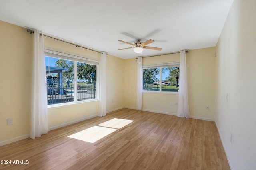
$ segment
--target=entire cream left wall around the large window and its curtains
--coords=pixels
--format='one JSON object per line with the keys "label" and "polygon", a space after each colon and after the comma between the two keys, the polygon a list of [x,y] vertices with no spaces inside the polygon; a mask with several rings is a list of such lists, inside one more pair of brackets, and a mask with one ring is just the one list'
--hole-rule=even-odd
{"label": "entire cream left wall around the large window and its curtains", "polygon": [[[30,135],[32,34],[26,28],[0,21],[0,146]],[[48,49],[100,60],[100,53],[44,37]],[[124,60],[108,55],[107,109],[124,107]],[[113,99],[113,103],[112,103]],[[48,109],[48,128],[54,129],[94,117],[98,100]],[[7,126],[7,118],[14,124]]]}

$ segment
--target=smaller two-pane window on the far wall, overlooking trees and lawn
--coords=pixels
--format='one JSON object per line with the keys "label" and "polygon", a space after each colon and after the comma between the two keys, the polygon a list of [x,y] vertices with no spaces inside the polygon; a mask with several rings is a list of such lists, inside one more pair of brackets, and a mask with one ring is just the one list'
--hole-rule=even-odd
{"label": "smaller two-pane window on the far wall, overlooking trees and lawn", "polygon": [[180,63],[142,66],[144,91],[178,92]]}

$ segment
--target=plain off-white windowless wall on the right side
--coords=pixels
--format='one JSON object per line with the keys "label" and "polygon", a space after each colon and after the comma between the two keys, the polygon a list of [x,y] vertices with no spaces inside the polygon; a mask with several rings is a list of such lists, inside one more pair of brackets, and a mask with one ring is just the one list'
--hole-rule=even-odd
{"label": "plain off-white windowless wall on the right side", "polygon": [[216,47],[215,120],[233,170],[256,169],[255,7],[234,0]]}

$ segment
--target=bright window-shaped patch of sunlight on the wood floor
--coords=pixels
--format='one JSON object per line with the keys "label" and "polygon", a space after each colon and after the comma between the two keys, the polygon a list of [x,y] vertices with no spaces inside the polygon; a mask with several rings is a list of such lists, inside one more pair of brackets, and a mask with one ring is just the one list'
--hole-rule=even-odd
{"label": "bright window-shaped patch of sunlight on the wood floor", "polygon": [[75,134],[72,134],[68,137],[94,143],[132,122],[132,120],[114,118],[94,127],[90,127]]}

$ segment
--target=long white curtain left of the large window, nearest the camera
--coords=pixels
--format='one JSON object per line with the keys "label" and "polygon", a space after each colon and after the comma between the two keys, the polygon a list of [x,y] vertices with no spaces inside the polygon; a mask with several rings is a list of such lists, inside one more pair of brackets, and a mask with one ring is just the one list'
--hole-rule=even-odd
{"label": "long white curtain left of the large window, nearest the camera", "polygon": [[30,138],[47,134],[47,90],[43,34],[34,30]]}

